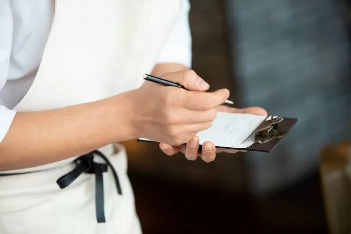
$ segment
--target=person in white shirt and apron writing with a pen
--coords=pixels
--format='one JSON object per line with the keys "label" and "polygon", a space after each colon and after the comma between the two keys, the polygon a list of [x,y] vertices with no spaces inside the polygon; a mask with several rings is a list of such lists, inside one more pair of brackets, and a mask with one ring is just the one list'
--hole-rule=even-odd
{"label": "person in white shirt and apron writing with a pen", "polygon": [[142,233],[118,142],[210,162],[216,149],[198,155],[196,134],[217,111],[265,114],[205,92],[189,11],[186,0],[0,0],[0,233]]}

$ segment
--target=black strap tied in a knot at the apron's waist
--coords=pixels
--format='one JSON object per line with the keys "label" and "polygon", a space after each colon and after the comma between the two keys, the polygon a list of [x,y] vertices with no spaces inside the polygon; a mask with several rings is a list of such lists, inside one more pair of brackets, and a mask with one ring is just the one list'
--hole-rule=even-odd
{"label": "black strap tied in a knot at the apron's waist", "polygon": [[[100,156],[106,164],[94,162],[94,155]],[[113,168],[110,161],[100,151],[94,150],[90,153],[80,156],[75,161],[76,168],[66,175],[60,177],[56,183],[61,189],[70,185],[80,174],[88,173],[95,174],[95,208],[96,208],[96,219],[98,223],[106,222],[105,220],[105,209],[104,209],[104,183],[102,173],[106,172],[108,166],[111,167],[112,173],[116,182],[118,194],[122,195],[122,189],[119,184],[117,172]]]}

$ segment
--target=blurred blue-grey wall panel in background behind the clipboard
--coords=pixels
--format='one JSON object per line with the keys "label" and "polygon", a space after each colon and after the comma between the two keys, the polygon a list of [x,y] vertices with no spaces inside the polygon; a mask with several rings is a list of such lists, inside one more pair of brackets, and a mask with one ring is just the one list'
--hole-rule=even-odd
{"label": "blurred blue-grey wall panel in background behind the clipboard", "polygon": [[345,11],[334,0],[226,6],[239,103],[298,118],[274,152],[246,157],[251,191],[269,193],[317,172],[323,145],[351,138]]}

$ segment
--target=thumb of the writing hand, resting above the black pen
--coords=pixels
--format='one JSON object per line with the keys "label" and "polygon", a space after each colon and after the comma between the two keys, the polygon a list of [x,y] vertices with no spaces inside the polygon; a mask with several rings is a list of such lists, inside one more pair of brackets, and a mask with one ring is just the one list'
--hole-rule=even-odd
{"label": "thumb of the writing hand, resting above the black pen", "polygon": [[164,79],[177,82],[192,91],[206,91],[210,88],[210,85],[193,70],[170,72],[164,74]]}

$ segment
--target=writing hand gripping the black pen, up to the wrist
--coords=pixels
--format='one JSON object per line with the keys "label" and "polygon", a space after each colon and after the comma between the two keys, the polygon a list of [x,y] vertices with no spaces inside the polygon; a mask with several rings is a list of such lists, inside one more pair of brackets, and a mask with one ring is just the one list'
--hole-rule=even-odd
{"label": "writing hand gripping the black pen, up to the wrist", "polygon": [[135,138],[181,145],[212,125],[216,108],[229,97],[229,90],[204,92],[209,84],[192,70],[161,77],[191,91],[146,81],[140,88],[128,92],[126,108],[130,113],[131,131]]}

